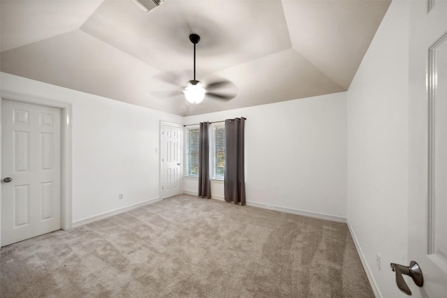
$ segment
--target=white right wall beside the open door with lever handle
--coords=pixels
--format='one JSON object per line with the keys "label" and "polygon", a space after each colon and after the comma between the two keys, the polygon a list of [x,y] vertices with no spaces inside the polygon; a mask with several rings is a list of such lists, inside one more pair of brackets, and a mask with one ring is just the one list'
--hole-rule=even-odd
{"label": "white right wall beside the open door with lever handle", "polygon": [[408,44],[408,3],[393,1],[347,92],[347,218],[381,297],[406,297],[389,264],[407,262]]}

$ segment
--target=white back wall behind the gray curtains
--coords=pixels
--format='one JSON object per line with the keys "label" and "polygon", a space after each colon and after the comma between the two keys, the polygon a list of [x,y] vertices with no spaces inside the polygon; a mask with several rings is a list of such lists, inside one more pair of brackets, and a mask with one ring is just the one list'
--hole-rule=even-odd
{"label": "white back wall behind the gray curtains", "polygon": [[[246,117],[247,204],[346,218],[346,93],[185,117],[185,124]],[[197,179],[184,191],[198,192]],[[223,184],[212,184],[223,198]]]}

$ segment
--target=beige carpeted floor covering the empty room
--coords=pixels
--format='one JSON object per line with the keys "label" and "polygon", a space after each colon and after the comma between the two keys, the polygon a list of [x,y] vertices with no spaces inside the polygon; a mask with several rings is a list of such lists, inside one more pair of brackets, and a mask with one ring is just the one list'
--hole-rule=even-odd
{"label": "beige carpeted floor covering the empty room", "polygon": [[344,223],[179,195],[0,251],[1,297],[374,297]]}

